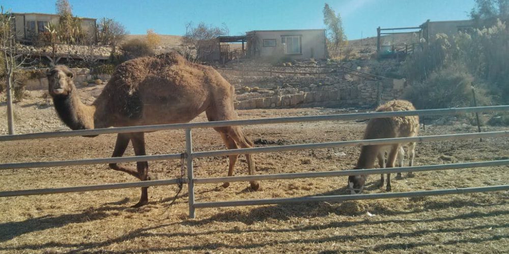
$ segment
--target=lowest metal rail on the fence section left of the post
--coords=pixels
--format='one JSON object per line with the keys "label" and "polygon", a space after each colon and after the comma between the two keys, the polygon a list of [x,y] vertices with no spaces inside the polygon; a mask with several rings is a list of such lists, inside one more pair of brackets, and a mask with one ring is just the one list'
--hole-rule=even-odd
{"label": "lowest metal rail on the fence section left of the post", "polygon": [[164,180],[151,180],[140,182],[122,182],[122,183],[107,183],[97,185],[84,185],[75,187],[62,187],[62,188],[42,188],[42,189],[23,189],[23,190],[8,190],[0,192],[0,197],[15,197],[15,196],[31,196],[31,195],[46,195],[58,193],[72,193],[72,192],[92,192],[94,190],[105,189],[122,189],[122,188],[136,188],[136,187],[149,187],[160,186],[168,184],[178,184],[179,182],[186,183],[185,178],[164,179]]}

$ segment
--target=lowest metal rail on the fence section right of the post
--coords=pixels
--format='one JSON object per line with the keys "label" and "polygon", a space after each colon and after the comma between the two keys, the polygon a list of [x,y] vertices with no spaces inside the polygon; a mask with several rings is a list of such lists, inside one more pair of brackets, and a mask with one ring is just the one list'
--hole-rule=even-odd
{"label": "lowest metal rail on the fence section right of the post", "polygon": [[331,195],[331,196],[309,196],[302,198],[279,198],[279,199],[259,199],[259,200],[236,200],[220,202],[197,202],[195,208],[227,207],[227,206],[250,206],[250,205],[273,205],[304,202],[338,202],[347,200],[365,200],[365,199],[393,199],[393,198],[411,198],[424,196],[439,196],[453,194],[467,194],[477,192],[499,192],[509,190],[509,185],[496,185],[486,187],[453,188],[439,190],[422,190],[419,192],[400,192],[400,193],[377,193],[362,195]]}

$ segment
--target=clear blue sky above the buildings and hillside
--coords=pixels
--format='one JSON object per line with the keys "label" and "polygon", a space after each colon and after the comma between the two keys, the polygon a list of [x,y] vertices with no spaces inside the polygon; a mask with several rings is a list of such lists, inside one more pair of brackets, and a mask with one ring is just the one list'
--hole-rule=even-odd
{"label": "clear blue sky above the buildings and hillside", "polygon": [[[418,26],[427,19],[467,19],[474,0],[69,0],[80,17],[114,18],[131,34],[147,29],[183,35],[188,21],[220,26],[230,35],[249,30],[325,28],[322,9],[328,3],[341,13],[350,40],[376,36],[376,27]],[[54,13],[54,0],[0,0],[13,12]]]}

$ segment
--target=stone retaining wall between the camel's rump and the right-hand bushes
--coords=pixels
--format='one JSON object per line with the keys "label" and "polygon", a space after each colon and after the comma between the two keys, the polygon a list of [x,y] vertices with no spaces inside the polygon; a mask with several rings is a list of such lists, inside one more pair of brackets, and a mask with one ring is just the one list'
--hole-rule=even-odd
{"label": "stone retaining wall between the camel's rump and the right-hand bushes", "polygon": [[[382,101],[399,99],[404,80],[364,80],[352,77],[246,77],[237,83],[237,109],[298,106],[355,106],[371,108]],[[245,86],[258,87],[249,91]]]}

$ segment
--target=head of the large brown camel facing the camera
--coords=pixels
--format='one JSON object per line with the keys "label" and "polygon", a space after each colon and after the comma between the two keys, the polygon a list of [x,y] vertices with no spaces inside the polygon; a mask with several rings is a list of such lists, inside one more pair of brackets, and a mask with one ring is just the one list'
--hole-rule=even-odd
{"label": "head of the large brown camel facing the camera", "polygon": [[47,73],[48,91],[52,97],[68,96],[74,87],[72,78],[74,74],[63,65],[50,69]]}

